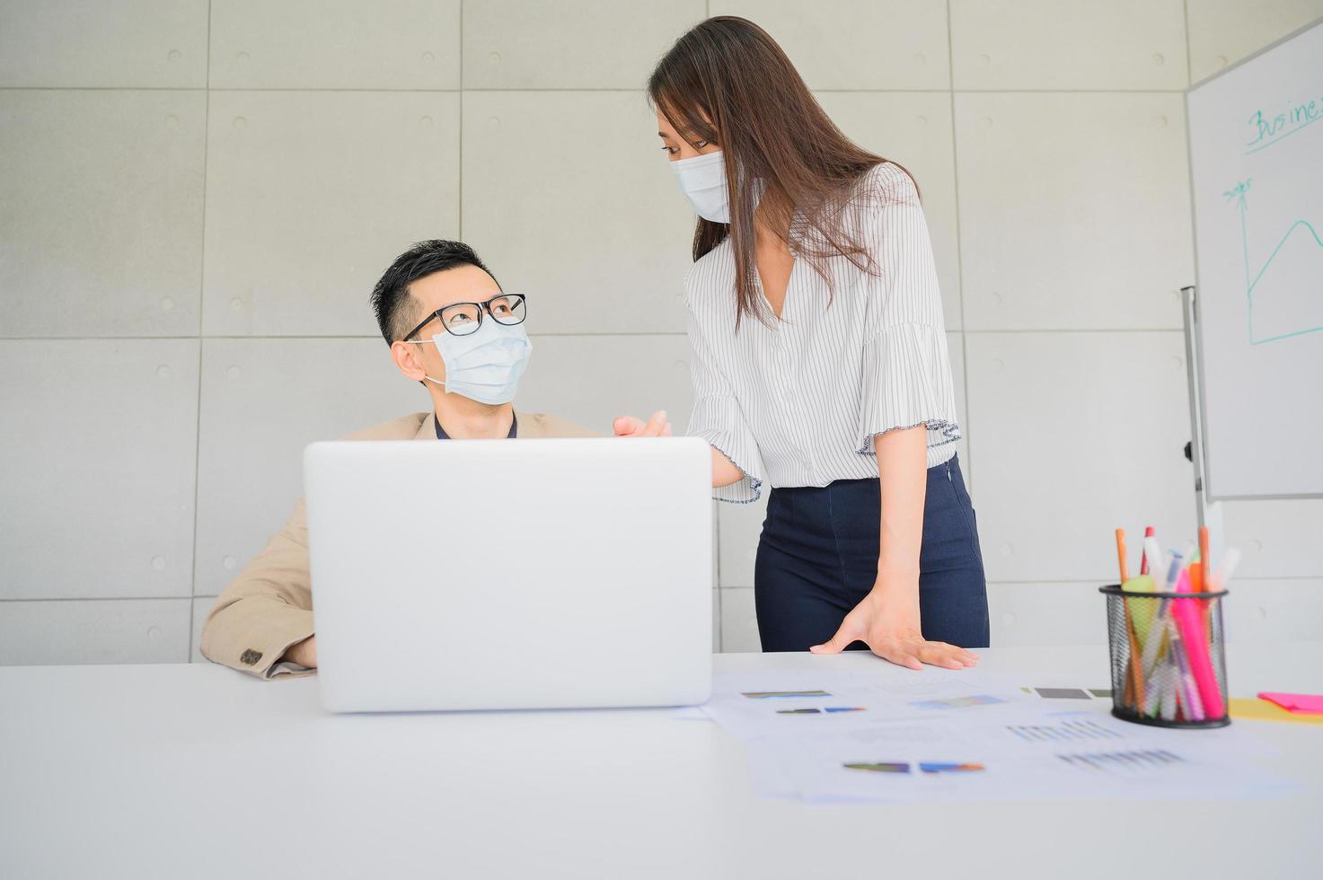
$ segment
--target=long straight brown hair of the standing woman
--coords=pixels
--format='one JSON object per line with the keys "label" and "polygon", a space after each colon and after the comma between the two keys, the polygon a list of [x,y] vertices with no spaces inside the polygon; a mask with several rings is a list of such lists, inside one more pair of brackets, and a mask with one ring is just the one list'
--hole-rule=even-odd
{"label": "long straight brown hair of the standing woman", "polygon": [[[693,258],[730,237],[737,327],[745,315],[773,318],[757,287],[755,208],[828,285],[830,257],[845,257],[876,274],[843,217],[860,177],[888,160],[841,134],[766,30],[737,16],[703,21],[658,62],[648,97],[691,146],[716,143],[725,155],[730,224],[699,217]],[[761,200],[757,179],[766,184]],[[792,224],[796,210],[802,221]]]}

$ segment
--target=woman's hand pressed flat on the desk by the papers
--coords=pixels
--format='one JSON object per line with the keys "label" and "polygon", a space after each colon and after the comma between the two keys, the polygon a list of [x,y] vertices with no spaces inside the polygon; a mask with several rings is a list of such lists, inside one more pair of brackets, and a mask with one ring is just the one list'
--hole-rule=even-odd
{"label": "woman's hand pressed flat on the desk by the papers", "polygon": [[[974,666],[979,658],[946,642],[929,642],[919,630],[918,607],[905,601],[913,593],[889,593],[875,586],[873,592],[841,621],[836,635],[824,644],[815,644],[814,654],[840,654],[851,642],[864,642],[873,654],[898,666],[922,670],[925,663],[947,670]],[[890,598],[889,598],[890,597]],[[914,602],[917,605],[917,602]]]}

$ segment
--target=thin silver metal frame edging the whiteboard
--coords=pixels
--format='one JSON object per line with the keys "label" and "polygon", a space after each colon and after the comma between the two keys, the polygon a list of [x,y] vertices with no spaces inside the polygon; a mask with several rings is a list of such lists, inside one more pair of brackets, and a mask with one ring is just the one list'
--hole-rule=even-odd
{"label": "thin silver metal frame edging the whiteboard", "polygon": [[1226,75],[1232,70],[1249,64],[1262,54],[1267,54],[1277,46],[1294,40],[1306,30],[1312,30],[1320,25],[1323,25],[1323,17],[1315,19],[1307,25],[1297,28],[1281,40],[1274,40],[1258,52],[1245,56],[1236,64],[1229,65],[1217,73],[1209,74],[1196,83],[1192,83],[1188,89],[1185,89],[1183,95],[1183,105],[1185,109],[1185,173],[1189,177],[1189,234],[1195,258],[1195,283],[1191,286],[1192,290],[1189,287],[1183,288],[1183,291],[1189,290],[1188,302],[1183,299],[1183,314],[1185,318],[1185,364],[1187,371],[1189,372],[1189,421],[1191,427],[1193,429],[1191,442],[1193,443],[1192,461],[1195,463],[1195,494],[1199,506],[1200,525],[1207,524],[1205,517],[1216,520],[1221,519],[1221,511],[1217,508],[1217,502],[1323,499],[1323,492],[1218,495],[1213,491],[1215,483],[1208,458],[1208,422],[1204,417],[1204,413],[1207,412],[1207,401],[1204,400],[1204,331],[1203,322],[1199,320],[1199,220],[1195,216],[1195,144],[1189,135],[1189,93],[1208,85],[1213,79]]}

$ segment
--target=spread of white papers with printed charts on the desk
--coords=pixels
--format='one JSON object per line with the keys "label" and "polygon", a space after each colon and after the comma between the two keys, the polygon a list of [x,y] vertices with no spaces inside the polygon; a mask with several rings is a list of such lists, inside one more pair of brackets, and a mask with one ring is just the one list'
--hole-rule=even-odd
{"label": "spread of white papers with printed charts on the desk", "polygon": [[718,674],[703,712],[744,741],[755,790],[806,801],[1274,797],[1238,728],[1111,717],[974,670]]}

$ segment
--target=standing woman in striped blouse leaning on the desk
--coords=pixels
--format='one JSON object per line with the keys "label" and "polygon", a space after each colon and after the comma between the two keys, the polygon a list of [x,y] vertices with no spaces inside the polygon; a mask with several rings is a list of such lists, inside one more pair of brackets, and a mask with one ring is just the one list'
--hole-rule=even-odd
{"label": "standing woman in striped blouse leaning on the desk", "polygon": [[718,499],[771,486],[762,648],[864,642],[912,668],[975,663],[963,648],[988,644],[983,560],[913,179],[851,143],[744,19],[680,37],[648,93],[699,213],[689,433],[712,445]]}

